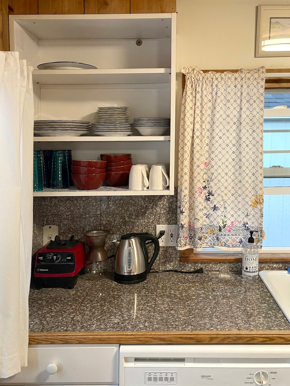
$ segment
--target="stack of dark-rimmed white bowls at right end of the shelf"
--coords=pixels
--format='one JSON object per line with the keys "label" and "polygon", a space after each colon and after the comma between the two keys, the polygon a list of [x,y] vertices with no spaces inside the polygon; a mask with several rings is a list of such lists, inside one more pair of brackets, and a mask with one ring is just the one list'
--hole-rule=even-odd
{"label": "stack of dark-rimmed white bowls at right end of the shelf", "polygon": [[141,135],[163,135],[170,127],[170,118],[134,118],[133,125]]}

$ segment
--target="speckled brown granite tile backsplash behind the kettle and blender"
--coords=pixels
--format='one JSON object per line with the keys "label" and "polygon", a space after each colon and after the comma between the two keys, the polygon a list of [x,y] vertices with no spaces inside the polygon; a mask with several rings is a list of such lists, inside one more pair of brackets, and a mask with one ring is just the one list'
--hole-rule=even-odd
{"label": "speckled brown granite tile backsplash behind the kettle and blender", "polygon": [[[109,230],[106,250],[115,252],[112,240],[129,232],[155,234],[157,224],[177,223],[177,188],[174,196],[83,196],[83,197],[34,197],[32,253],[42,247],[43,225],[58,225],[61,238],[72,234],[85,241],[84,233],[93,229]],[[148,246],[152,255],[153,246]],[[113,271],[113,259],[108,269]],[[204,271],[241,271],[237,262],[189,262],[179,261],[175,247],[160,247],[153,268],[192,271],[203,267]],[[260,263],[259,270],[286,269],[287,263]]]}

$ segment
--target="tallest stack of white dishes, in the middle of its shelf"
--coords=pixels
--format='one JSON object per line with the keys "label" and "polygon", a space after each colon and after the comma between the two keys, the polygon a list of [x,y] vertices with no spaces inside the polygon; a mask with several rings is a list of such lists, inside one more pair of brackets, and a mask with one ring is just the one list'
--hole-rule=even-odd
{"label": "tallest stack of white dishes, in the middle of its shelf", "polygon": [[128,121],[128,107],[99,107],[92,132],[102,137],[126,137],[133,133]]}

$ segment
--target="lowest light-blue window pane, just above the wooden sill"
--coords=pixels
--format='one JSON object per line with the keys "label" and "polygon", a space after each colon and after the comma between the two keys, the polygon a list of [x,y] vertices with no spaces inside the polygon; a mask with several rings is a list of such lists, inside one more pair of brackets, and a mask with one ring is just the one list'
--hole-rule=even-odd
{"label": "lowest light-blue window pane, just above the wooden sill", "polygon": [[290,247],[290,195],[264,195],[263,247]]}

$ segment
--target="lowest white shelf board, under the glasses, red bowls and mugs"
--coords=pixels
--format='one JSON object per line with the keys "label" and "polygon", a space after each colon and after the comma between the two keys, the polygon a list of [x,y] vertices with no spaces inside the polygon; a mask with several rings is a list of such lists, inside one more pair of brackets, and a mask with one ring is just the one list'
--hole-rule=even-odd
{"label": "lowest white shelf board, under the glasses, red bowls and mugs", "polygon": [[68,189],[44,189],[41,192],[33,192],[34,197],[47,196],[164,196],[169,195],[167,190],[129,190],[128,186],[113,188],[101,186],[97,190],[78,190],[75,186]]}

